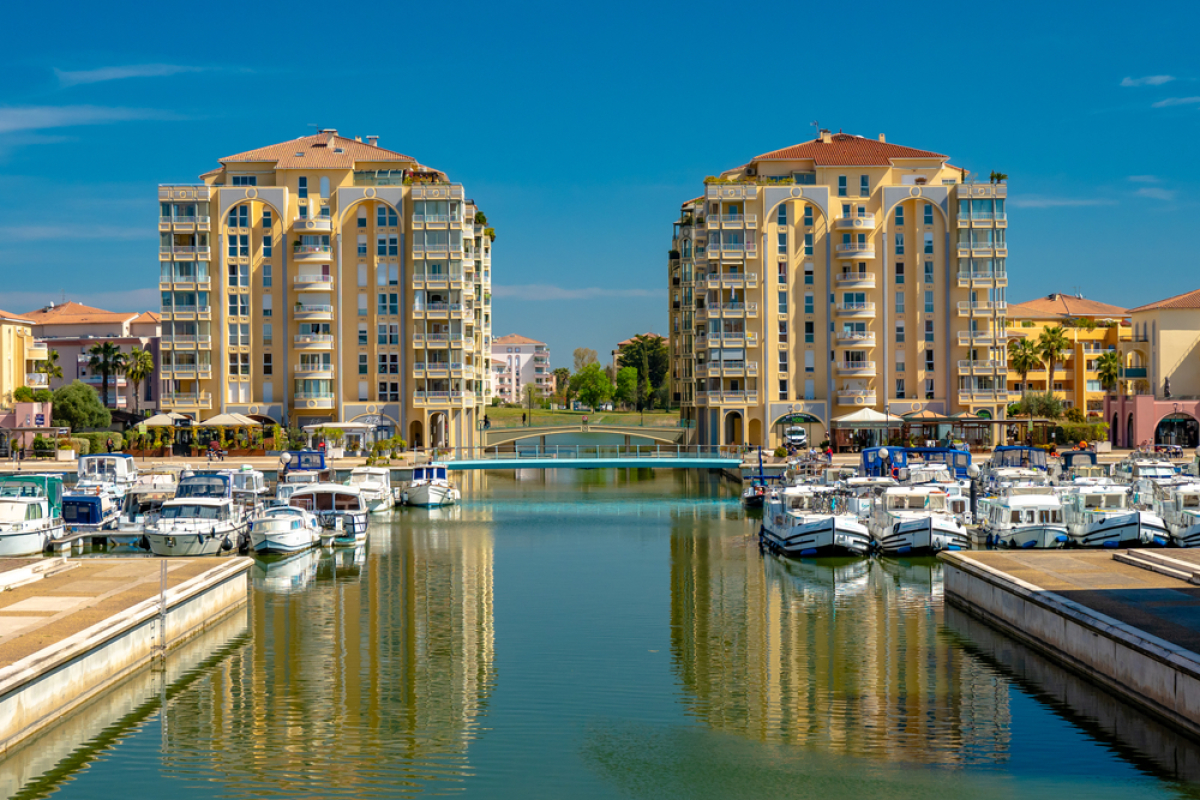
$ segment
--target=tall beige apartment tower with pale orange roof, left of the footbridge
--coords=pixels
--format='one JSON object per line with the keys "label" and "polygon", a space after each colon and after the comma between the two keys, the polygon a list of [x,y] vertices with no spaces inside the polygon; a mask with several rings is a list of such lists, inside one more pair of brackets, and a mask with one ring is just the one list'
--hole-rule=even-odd
{"label": "tall beige apartment tower with pale orange roof, left of the footbridge", "polygon": [[325,130],[158,188],[162,407],[470,446],[492,231],[461,184]]}

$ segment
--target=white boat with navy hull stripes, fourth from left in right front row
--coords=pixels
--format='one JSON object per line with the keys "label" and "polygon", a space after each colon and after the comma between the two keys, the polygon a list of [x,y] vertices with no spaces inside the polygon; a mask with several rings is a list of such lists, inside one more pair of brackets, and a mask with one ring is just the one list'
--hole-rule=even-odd
{"label": "white boat with navy hull stripes, fourth from left in right front row", "polygon": [[1067,535],[1079,547],[1163,547],[1162,517],[1138,511],[1128,486],[1078,486],[1062,495]]}

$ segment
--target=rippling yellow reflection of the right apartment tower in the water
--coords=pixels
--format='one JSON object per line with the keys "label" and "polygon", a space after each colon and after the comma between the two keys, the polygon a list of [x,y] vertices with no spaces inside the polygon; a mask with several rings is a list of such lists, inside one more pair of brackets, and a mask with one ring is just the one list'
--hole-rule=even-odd
{"label": "rippling yellow reflection of the right apartment tower in the water", "polygon": [[1008,684],[940,633],[935,560],[787,561],[694,524],[671,541],[671,621],[697,717],[876,759],[1009,758]]}

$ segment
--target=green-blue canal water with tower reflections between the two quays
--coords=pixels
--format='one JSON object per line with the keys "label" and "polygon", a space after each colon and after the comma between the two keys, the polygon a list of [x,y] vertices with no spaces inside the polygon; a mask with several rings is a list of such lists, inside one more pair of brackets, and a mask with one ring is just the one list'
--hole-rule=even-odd
{"label": "green-blue canal water with tower reflections between the two quays", "polygon": [[709,474],[476,474],[0,762],[22,798],[1200,796],[1200,747]]}

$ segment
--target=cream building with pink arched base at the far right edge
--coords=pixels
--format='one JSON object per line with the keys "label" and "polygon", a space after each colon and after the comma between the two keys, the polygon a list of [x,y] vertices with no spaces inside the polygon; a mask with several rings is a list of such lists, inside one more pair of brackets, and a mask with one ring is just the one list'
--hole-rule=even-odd
{"label": "cream building with pink arched base at the far right edge", "polygon": [[1200,445],[1200,289],[1129,314],[1121,380],[1104,398],[1110,440],[1118,447]]}

